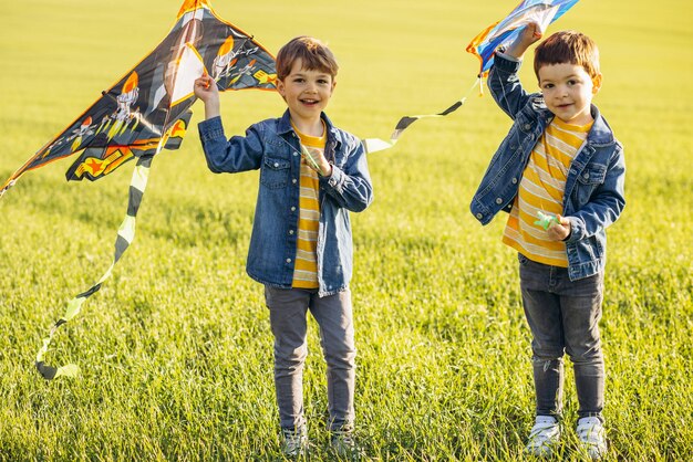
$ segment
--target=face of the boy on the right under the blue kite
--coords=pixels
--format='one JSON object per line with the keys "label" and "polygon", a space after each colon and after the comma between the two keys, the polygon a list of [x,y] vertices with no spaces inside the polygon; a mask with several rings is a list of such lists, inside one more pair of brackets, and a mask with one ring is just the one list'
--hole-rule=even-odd
{"label": "face of the boy on the right under the blue kite", "polygon": [[577,64],[548,64],[539,67],[539,87],[546,106],[556,117],[571,125],[592,122],[590,105],[601,87],[601,74],[594,78]]}

